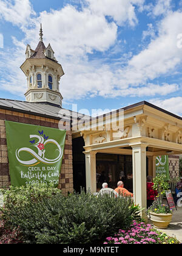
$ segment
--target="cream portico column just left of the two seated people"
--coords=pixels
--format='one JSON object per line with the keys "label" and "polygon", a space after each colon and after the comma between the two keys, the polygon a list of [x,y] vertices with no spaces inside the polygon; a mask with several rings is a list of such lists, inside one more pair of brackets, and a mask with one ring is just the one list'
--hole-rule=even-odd
{"label": "cream portico column just left of the two seated people", "polygon": [[96,192],[96,152],[85,152],[86,155],[86,190]]}

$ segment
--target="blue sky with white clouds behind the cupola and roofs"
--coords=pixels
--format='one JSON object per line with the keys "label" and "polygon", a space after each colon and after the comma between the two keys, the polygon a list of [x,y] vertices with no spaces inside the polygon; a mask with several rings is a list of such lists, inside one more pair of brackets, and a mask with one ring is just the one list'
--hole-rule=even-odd
{"label": "blue sky with white clouds behind the cupola and roofs", "polygon": [[[25,49],[51,44],[63,107],[107,112],[149,101],[182,115],[182,1],[0,0],[0,98],[24,101]],[[2,38],[3,37],[3,47]]]}

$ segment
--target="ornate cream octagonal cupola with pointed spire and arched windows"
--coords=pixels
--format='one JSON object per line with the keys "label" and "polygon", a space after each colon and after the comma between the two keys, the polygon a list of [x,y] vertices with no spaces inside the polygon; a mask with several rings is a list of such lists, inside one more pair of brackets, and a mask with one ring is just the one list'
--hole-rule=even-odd
{"label": "ornate cream octagonal cupola with pointed spire and arched windows", "polygon": [[56,60],[55,52],[50,44],[45,48],[42,40],[42,25],[39,37],[39,43],[35,50],[27,44],[26,60],[21,65],[21,69],[27,77],[25,100],[28,102],[47,102],[62,107],[59,81],[64,75],[64,71]]}

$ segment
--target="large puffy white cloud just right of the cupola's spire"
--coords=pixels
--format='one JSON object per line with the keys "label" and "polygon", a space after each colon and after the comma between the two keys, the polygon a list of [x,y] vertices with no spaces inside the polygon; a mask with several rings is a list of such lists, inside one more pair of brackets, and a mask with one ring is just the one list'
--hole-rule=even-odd
{"label": "large puffy white cloud just right of the cupola's spire", "polygon": [[52,41],[55,52],[60,55],[85,57],[93,50],[106,51],[116,40],[116,24],[108,23],[104,16],[86,8],[78,11],[67,5],[61,10],[40,13],[39,20],[43,25],[45,41]]}

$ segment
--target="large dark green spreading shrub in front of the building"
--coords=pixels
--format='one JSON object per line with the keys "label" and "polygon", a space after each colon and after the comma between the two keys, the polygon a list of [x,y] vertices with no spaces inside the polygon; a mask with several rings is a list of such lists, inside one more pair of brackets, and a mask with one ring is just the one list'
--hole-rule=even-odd
{"label": "large dark green spreading shrub in front of the building", "polygon": [[91,193],[30,197],[26,204],[5,204],[4,216],[18,227],[26,243],[94,243],[138,218],[140,208],[131,197],[93,196]]}

